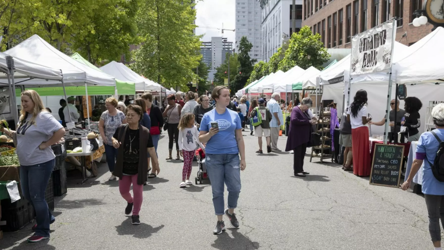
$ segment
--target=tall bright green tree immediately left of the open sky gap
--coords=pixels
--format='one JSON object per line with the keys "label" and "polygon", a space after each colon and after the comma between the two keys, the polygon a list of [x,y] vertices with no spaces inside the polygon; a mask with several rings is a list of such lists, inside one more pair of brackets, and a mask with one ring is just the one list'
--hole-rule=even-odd
{"label": "tall bright green tree immediately left of the open sky gap", "polygon": [[200,38],[194,35],[192,1],[143,0],[136,22],[143,45],[133,53],[131,67],[165,87],[186,87],[202,58]]}

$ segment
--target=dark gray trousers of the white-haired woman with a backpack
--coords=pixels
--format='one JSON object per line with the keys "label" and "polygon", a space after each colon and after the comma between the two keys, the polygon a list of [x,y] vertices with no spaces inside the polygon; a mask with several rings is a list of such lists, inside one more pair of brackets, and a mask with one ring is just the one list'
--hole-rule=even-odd
{"label": "dark gray trousers of the white-haired woman with a backpack", "polygon": [[432,242],[441,241],[440,219],[444,227],[444,195],[424,195],[428,211],[428,231]]}

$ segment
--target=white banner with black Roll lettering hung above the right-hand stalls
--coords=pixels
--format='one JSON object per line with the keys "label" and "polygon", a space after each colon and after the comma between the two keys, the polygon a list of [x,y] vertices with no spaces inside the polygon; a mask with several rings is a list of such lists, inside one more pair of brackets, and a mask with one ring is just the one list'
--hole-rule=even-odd
{"label": "white banner with black Roll lettering hung above the right-hand stalls", "polygon": [[389,21],[353,36],[350,74],[366,74],[389,69],[392,55],[393,29]]}

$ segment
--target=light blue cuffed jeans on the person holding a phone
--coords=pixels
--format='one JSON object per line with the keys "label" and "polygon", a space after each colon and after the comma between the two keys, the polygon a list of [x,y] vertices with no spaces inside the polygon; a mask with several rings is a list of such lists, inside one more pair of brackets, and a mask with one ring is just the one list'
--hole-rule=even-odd
{"label": "light blue cuffed jeans on the person holding a phone", "polygon": [[228,191],[228,208],[238,206],[241,192],[241,168],[239,154],[209,154],[205,156],[206,171],[211,181],[213,205],[216,215],[223,215],[225,204],[223,199],[224,183]]}

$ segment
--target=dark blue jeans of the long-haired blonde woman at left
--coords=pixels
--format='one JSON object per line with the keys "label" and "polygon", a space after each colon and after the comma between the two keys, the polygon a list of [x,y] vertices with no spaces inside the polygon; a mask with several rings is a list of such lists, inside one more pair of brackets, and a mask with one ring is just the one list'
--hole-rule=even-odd
{"label": "dark blue jeans of the long-haired blonde woman at left", "polygon": [[55,165],[56,160],[53,159],[32,166],[20,166],[22,193],[36,210],[37,228],[35,233],[44,237],[49,237],[49,223],[56,220],[49,211],[48,203],[45,200],[46,186],[48,186]]}

